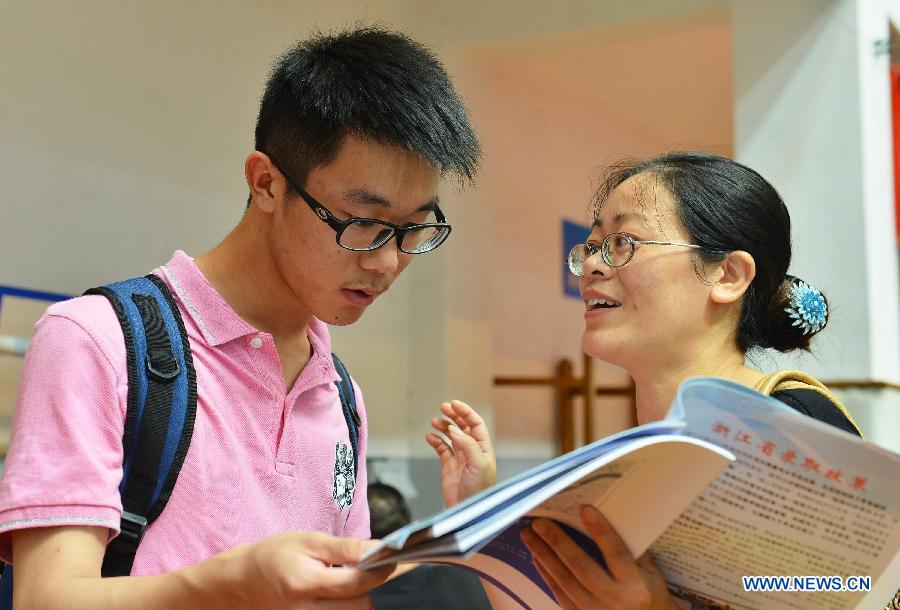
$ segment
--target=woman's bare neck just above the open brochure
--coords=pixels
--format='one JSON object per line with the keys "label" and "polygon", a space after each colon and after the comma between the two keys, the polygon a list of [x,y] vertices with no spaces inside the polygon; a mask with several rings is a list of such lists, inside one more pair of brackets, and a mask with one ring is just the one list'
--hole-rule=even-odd
{"label": "woman's bare neck just above the open brochure", "polygon": [[668,364],[645,362],[629,369],[629,373],[635,384],[639,424],[665,417],[678,386],[690,377],[721,377],[749,387],[763,377],[763,373],[744,364],[744,354],[736,346],[705,349],[693,358],[685,355]]}

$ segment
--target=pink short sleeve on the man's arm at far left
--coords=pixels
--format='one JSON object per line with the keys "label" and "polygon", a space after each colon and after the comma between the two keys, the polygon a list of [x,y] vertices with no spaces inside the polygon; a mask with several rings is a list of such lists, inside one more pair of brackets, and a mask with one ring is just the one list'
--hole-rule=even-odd
{"label": "pink short sleeve on the man's arm at far left", "polygon": [[9,533],[17,529],[118,533],[126,397],[125,349],[108,302],[81,297],[51,307],[19,383],[0,479],[0,558],[11,560]]}

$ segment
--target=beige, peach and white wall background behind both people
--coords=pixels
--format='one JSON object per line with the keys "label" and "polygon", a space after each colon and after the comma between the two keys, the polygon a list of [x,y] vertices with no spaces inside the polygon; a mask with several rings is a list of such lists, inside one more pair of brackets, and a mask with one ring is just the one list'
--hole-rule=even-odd
{"label": "beige, peach and white wall background behind both people", "polygon": [[[729,153],[732,83],[735,150],[782,188],[795,268],[834,305],[825,364],[810,368],[895,370],[887,327],[870,324],[897,324],[896,270],[870,272],[880,241],[852,264],[822,245],[837,228],[862,235],[882,223],[860,203],[880,188],[864,176],[862,144],[834,144],[861,142],[871,114],[854,93],[867,43],[853,32],[869,17],[846,1],[731,4],[732,20],[725,0],[2,2],[0,283],[77,293],[175,248],[213,246],[243,211],[242,164],[272,59],[314,26],[363,18],[434,46],[487,152],[477,189],[445,185],[447,245],[335,330],[366,391],[374,453],[424,458],[428,418],[451,396],[496,420],[510,455],[552,451],[549,393],[491,380],[579,362],[581,307],[560,295],[560,219],[585,218],[591,178],[610,160]],[[867,146],[881,146],[877,135]],[[873,277],[894,296],[872,300]],[[608,367],[600,381],[624,379]],[[622,425],[623,409],[599,419]]]}

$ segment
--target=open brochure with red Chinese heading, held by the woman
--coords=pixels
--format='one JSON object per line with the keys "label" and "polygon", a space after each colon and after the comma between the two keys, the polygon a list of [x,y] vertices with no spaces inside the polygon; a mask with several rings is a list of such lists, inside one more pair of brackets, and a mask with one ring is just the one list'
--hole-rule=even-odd
{"label": "open brochure with red Chinese heading, held by the woman", "polygon": [[[393,532],[360,566],[458,564],[495,584],[510,608],[556,608],[519,530],[553,519],[599,559],[578,518],[583,504],[635,557],[649,549],[684,608],[880,609],[900,586],[900,455],[714,378],[682,384],[662,421]],[[831,580],[747,591],[745,576]],[[870,577],[868,591],[809,590],[856,576]]]}

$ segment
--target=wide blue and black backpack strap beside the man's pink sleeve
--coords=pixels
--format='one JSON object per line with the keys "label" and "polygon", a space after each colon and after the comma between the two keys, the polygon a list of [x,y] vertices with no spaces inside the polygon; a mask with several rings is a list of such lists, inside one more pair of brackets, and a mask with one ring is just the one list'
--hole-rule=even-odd
{"label": "wide blue and black backpack strap beside the man's pink sleeve", "polygon": [[132,278],[85,294],[109,299],[125,339],[121,532],[107,546],[102,574],[127,576],[144,531],[165,508],[187,455],[197,379],[184,321],[159,277]]}

